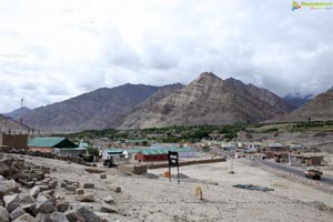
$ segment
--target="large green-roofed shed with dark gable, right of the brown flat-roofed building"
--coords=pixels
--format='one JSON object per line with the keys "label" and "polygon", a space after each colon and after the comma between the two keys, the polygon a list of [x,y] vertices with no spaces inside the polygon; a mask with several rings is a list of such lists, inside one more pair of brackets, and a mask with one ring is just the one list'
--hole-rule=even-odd
{"label": "large green-roofed shed with dark gable, right of the brown flat-roofed building", "polygon": [[29,141],[30,151],[53,152],[54,149],[73,149],[79,145],[65,138],[33,138]]}

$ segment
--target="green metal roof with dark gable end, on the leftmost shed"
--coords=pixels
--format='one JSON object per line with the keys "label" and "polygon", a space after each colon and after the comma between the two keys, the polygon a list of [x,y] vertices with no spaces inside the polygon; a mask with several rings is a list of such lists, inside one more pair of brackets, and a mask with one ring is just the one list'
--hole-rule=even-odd
{"label": "green metal roof with dark gable end, on the leftmost shed", "polygon": [[65,138],[32,138],[28,147],[39,148],[77,148],[78,145]]}

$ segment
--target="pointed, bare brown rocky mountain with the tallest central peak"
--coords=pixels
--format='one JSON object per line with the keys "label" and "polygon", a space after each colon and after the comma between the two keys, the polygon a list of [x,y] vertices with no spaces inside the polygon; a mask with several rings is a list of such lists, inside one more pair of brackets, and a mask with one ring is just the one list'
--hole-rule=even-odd
{"label": "pointed, bare brown rocky mountain with the tallest central peak", "polygon": [[268,90],[211,72],[159,99],[137,107],[119,128],[260,122],[294,109]]}

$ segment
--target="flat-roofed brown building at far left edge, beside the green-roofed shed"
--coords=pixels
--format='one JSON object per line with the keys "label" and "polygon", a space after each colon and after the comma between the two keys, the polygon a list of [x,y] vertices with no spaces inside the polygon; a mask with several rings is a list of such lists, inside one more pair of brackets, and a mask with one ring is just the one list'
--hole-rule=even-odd
{"label": "flat-roofed brown building at far left edge, beside the green-roofed shed", "polygon": [[0,147],[27,149],[28,134],[6,134],[0,132]]}

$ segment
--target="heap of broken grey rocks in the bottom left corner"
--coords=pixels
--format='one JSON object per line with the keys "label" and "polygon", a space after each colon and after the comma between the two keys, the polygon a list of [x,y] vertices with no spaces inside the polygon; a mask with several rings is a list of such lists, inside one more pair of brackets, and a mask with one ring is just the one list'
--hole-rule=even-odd
{"label": "heap of broken grey rocks in the bottom left corner", "polygon": [[101,221],[90,209],[77,205],[73,210],[63,196],[56,195],[58,181],[49,171],[14,157],[0,160],[1,222]]}

